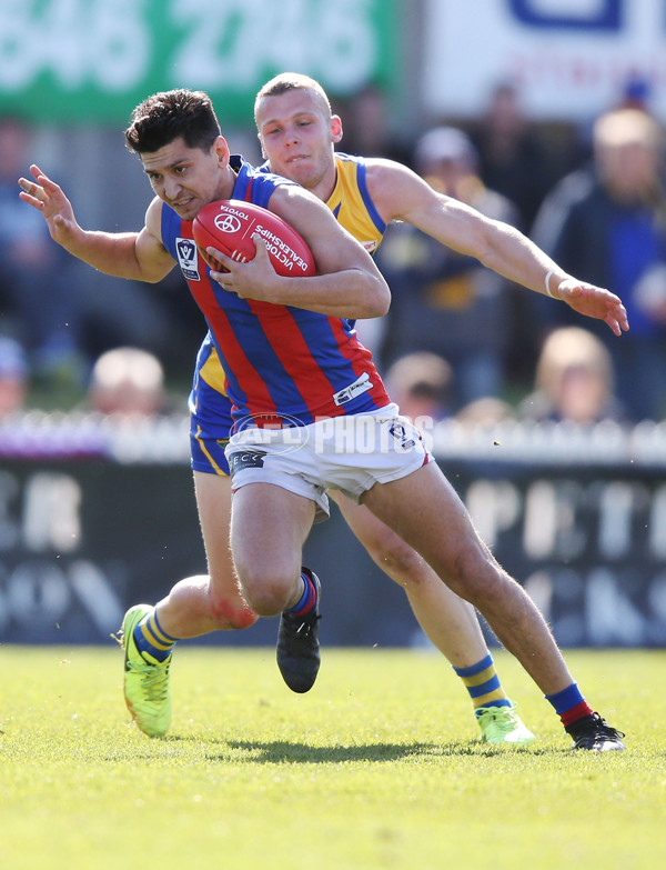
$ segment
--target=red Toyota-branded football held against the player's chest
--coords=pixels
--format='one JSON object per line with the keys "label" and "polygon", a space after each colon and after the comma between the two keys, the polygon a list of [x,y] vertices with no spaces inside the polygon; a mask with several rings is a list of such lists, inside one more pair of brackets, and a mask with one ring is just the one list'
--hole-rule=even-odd
{"label": "red Toyota-branded football held against the player's chest", "polygon": [[218,272],[226,270],[205,249],[213,247],[233,260],[248,262],[254,258],[252,234],[256,232],[265,240],[278,274],[316,274],[314,258],[303,238],[278,214],[252,202],[209,202],[194,218],[192,232],[200,254]]}

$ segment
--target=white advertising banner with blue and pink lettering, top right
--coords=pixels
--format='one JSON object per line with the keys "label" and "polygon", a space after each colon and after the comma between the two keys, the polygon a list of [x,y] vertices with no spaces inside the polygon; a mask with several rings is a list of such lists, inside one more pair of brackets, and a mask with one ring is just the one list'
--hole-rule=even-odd
{"label": "white advertising banner with blue and pink lettering, top right", "polygon": [[426,21],[424,102],[434,117],[475,117],[511,80],[532,117],[587,121],[632,79],[647,83],[666,120],[664,0],[427,0]]}

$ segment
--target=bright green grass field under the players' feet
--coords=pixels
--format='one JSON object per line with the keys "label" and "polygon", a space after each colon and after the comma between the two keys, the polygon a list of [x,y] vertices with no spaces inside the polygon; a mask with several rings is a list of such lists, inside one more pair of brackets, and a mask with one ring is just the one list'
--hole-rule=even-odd
{"label": "bright green grass field under the players' feet", "polygon": [[273,651],[182,644],[174,717],[145,738],[122,653],[0,647],[7,870],[654,870],[666,864],[666,652],[567,653],[627,751],[572,752],[495,658],[531,748],[487,747],[436,654],[325,650],[306,696]]}

